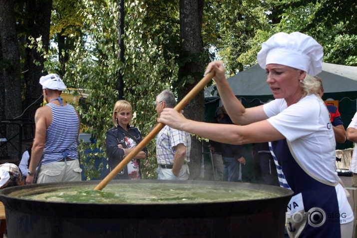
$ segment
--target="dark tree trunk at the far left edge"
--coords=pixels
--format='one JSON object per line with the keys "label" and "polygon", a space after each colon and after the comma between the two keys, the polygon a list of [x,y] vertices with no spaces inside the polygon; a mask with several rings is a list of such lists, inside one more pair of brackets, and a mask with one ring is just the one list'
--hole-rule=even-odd
{"label": "dark tree trunk at the far left edge", "polygon": [[[0,36],[2,53],[1,85],[1,120],[13,119],[21,114],[21,84],[20,84],[20,57],[15,29],[13,0],[0,0]],[[17,141],[18,127],[1,127],[1,138],[13,138],[11,142]],[[7,143],[10,145],[9,143]],[[18,147],[7,146],[7,153],[1,156],[18,158],[20,153]],[[2,151],[3,152],[3,151]]]}

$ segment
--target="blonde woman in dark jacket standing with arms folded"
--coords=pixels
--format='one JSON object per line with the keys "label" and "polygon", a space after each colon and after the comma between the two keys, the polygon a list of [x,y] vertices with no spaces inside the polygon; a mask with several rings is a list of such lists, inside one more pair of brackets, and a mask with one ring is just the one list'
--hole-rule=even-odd
{"label": "blonde woman in dark jacket standing with arms folded", "polygon": [[[130,126],[131,110],[130,103],[125,100],[119,100],[114,105],[113,124],[115,127],[106,133],[109,172],[142,141],[140,131]],[[140,159],[145,159],[146,155],[147,148],[144,147],[114,179],[140,179]]]}

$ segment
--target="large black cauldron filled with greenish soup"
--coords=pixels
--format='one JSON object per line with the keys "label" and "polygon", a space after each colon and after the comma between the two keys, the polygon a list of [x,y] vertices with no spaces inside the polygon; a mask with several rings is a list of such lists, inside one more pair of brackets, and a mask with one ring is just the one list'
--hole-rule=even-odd
{"label": "large black cauldron filled with greenish soup", "polygon": [[[259,238],[284,237],[285,212],[292,191],[267,185],[163,180],[112,183],[188,183],[275,192],[279,197],[224,203],[89,204],[16,198],[37,190],[93,185],[98,181],[34,184],[3,189],[8,238]],[[134,185],[133,185],[134,186]]]}

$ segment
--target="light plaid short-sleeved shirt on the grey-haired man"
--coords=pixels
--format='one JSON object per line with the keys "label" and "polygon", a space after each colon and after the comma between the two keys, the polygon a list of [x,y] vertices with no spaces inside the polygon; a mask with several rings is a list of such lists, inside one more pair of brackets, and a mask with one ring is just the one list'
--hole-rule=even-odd
{"label": "light plaid short-sleeved shirt on the grey-haired man", "polygon": [[156,136],[156,156],[159,165],[172,165],[175,158],[175,147],[186,146],[185,163],[190,162],[191,136],[189,133],[165,126]]}

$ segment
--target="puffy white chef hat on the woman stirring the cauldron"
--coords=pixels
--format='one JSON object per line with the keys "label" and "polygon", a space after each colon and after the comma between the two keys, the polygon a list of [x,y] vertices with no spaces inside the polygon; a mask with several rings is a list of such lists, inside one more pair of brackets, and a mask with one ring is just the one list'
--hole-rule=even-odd
{"label": "puffy white chef hat on the woman stirring the cauldron", "polygon": [[263,69],[267,64],[282,64],[315,76],[322,71],[323,47],[311,36],[279,32],[262,44],[257,55]]}

